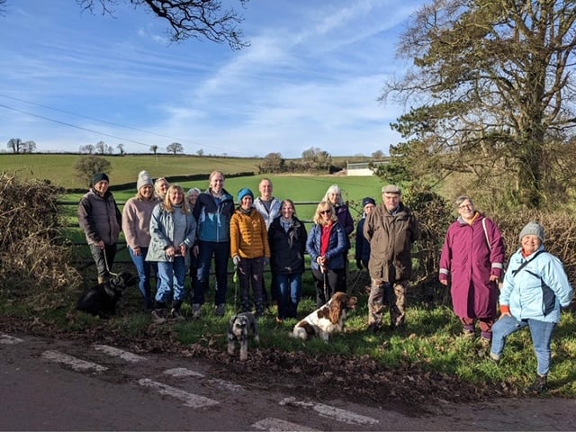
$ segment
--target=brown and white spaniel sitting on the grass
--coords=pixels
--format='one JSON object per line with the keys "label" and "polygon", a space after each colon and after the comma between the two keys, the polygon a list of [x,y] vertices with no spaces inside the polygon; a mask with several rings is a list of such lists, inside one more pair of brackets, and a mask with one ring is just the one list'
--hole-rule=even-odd
{"label": "brown and white spaniel sitting on the grass", "polygon": [[356,309],[356,302],[356,297],[335,293],[328,303],[298,322],[290,335],[302,340],[319,336],[328,342],[330,335],[344,330],[347,311]]}

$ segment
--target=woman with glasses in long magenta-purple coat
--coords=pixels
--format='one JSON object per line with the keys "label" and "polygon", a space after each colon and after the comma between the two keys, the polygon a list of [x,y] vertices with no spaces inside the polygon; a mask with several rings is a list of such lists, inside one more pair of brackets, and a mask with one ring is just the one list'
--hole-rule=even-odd
{"label": "woman with glasses in long magenta-purple coat", "polygon": [[504,268],[504,242],[494,221],[476,211],[472,199],[456,199],[460,216],[450,225],[440,257],[440,283],[451,285],[456,316],[464,336],[473,338],[480,322],[481,344],[490,347],[497,316],[498,283]]}

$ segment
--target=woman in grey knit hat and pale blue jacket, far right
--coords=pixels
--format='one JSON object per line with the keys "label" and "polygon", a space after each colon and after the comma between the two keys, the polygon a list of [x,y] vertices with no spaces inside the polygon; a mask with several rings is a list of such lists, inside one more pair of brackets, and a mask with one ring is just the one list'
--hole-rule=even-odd
{"label": "woman in grey knit hat and pale blue jacket, far right", "polygon": [[572,302],[572,286],[562,262],[545,251],[544,228],[536,221],[520,231],[522,247],[510,257],[500,292],[500,320],[492,328],[491,359],[498,362],[506,338],[528,327],[538,361],[531,392],[544,392],[550,370],[550,348],[560,311]]}

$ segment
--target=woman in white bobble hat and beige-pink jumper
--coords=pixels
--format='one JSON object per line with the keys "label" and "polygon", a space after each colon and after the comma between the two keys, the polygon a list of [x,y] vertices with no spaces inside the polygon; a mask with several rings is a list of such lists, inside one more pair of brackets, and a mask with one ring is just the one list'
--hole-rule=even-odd
{"label": "woman in white bobble hat and beige-pink jumper", "polygon": [[130,198],[122,211],[122,231],[130,251],[132,262],[138,271],[139,290],[144,299],[144,308],[152,310],[154,296],[150,292],[150,269],[156,263],[145,260],[150,243],[150,218],[160,201],[154,195],[154,182],[147,171],[140,171],[136,182],[138,192]]}

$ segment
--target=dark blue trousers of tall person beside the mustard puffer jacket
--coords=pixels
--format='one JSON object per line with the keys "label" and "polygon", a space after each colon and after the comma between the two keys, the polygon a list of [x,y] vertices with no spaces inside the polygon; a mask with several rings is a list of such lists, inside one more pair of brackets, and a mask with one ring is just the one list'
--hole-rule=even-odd
{"label": "dark blue trousers of tall person beside the mustard puffer jacket", "polygon": [[230,256],[229,241],[200,241],[200,251],[198,252],[198,280],[192,298],[196,304],[204,303],[204,293],[208,291],[210,278],[210,266],[212,256],[214,256],[214,266],[216,273],[216,290],[214,304],[226,303],[226,293],[228,291],[228,258]]}

